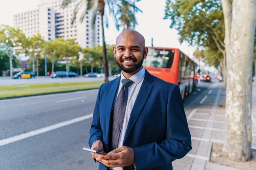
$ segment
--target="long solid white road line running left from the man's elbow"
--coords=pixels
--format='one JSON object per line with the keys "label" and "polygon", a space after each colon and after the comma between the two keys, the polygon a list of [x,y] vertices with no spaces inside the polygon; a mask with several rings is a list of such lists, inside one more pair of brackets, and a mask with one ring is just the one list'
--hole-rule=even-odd
{"label": "long solid white road line running left from the man's elbow", "polygon": [[27,132],[27,133],[16,135],[16,136],[13,136],[13,137],[10,137],[10,138],[7,138],[7,139],[3,139],[3,140],[0,140],[0,146],[6,145],[6,144],[9,144],[9,143],[12,143],[12,142],[17,142],[17,141],[20,141],[22,139],[29,138],[31,136],[35,136],[35,135],[38,135],[38,134],[41,134],[41,133],[45,133],[45,132],[48,132],[50,130],[58,129],[60,127],[71,125],[73,123],[80,122],[80,121],[85,120],[85,119],[90,119],[91,117],[93,117],[93,113],[90,113],[86,116],[81,116],[81,117],[78,117],[78,118],[75,118],[75,119],[71,119],[71,120],[68,120],[68,121],[65,121],[65,122],[61,122],[61,123],[58,123],[58,124],[55,124],[55,125],[51,125],[51,126],[48,126],[48,127],[44,127],[44,128],[38,129],[38,130],[33,130],[33,131],[30,131],[30,132]]}

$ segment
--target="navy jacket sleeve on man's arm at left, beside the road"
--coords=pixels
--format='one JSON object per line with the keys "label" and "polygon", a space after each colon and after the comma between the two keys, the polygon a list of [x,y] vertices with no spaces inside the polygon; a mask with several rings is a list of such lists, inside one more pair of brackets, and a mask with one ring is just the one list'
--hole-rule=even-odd
{"label": "navy jacket sleeve on man's arm at left, beside the road", "polygon": [[95,108],[93,111],[93,121],[90,128],[90,139],[89,139],[90,148],[92,147],[93,142],[96,140],[100,140],[103,143],[102,130],[101,130],[100,118],[99,118],[99,101],[100,101],[101,88],[102,88],[102,85],[99,88]]}

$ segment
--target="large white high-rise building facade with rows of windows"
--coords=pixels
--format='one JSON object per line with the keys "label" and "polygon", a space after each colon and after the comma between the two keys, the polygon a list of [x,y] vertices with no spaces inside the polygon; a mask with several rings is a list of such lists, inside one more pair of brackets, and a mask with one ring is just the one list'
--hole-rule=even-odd
{"label": "large white high-rise building facade with rows of windows", "polygon": [[55,40],[55,37],[63,37],[65,40],[75,39],[82,48],[99,45],[100,16],[96,16],[94,28],[92,28],[93,11],[87,12],[84,20],[80,22],[86,9],[84,3],[81,4],[72,25],[78,0],[72,0],[72,3],[64,9],[61,8],[61,4],[62,0],[38,0],[37,9],[14,15],[14,26],[29,37],[39,33],[44,40]]}

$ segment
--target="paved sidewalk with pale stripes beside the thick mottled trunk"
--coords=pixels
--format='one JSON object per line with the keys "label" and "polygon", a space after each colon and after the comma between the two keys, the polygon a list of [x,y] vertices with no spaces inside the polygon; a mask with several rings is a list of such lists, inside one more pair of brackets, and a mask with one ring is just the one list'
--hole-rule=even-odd
{"label": "paved sidewalk with pale stripes beside the thick mottled trunk", "polygon": [[[209,162],[212,142],[224,143],[225,109],[219,108],[225,100],[224,83],[215,82],[202,95],[200,104],[187,116],[192,136],[192,150],[173,162],[174,170],[239,170]],[[256,149],[256,84],[253,83],[252,148]],[[253,168],[256,167],[252,167]],[[248,169],[249,170],[249,169]]]}

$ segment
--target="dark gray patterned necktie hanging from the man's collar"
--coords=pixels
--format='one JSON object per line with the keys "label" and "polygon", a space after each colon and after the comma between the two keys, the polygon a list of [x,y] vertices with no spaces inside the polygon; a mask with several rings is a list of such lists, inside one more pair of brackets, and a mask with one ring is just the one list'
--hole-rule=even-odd
{"label": "dark gray patterned necktie hanging from the man's collar", "polygon": [[122,129],[122,123],[125,116],[125,108],[128,100],[128,87],[134,82],[130,79],[122,79],[122,88],[116,98],[112,113],[112,136],[111,149],[118,146],[119,136]]}

